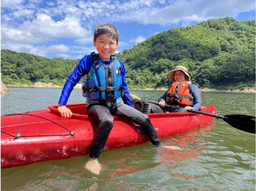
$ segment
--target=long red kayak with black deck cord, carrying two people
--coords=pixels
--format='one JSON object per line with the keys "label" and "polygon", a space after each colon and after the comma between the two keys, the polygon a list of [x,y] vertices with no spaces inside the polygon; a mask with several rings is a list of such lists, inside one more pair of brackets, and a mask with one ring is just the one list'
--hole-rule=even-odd
{"label": "long red kayak with black deck cord, carrying two people", "polygon": [[[149,116],[160,138],[185,133],[213,120],[196,113],[148,114],[148,102],[132,102],[134,108]],[[85,103],[67,105],[72,118],[60,117],[57,107],[1,116],[1,169],[89,154],[98,122],[88,117]],[[216,113],[214,106],[204,106],[200,111]],[[149,141],[140,126],[115,116],[114,120],[103,151]]]}

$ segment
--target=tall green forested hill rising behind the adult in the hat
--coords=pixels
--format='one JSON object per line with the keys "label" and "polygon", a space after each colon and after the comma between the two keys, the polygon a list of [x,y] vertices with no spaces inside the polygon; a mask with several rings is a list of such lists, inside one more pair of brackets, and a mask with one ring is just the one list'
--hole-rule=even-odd
{"label": "tall green forested hill rising behind the adult in the hat", "polygon": [[209,19],[149,37],[117,54],[130,87],[169,87],[168,71],[188,69],[201,87],[255,86],[255,19]]}

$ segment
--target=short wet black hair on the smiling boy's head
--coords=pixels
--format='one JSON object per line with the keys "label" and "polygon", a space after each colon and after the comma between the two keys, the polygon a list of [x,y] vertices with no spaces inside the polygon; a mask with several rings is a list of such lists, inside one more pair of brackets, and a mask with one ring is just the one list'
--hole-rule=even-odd
{"label": "short wet black hair on the smiling boy's head", "polygon": [[96,39],[100,34],[106,34],[108,36],[113,36],[113,39],[118,43],[119,40],[119,32],[115,25],[111,23],[100,23],[94,30],[93,38],[96,42]]}

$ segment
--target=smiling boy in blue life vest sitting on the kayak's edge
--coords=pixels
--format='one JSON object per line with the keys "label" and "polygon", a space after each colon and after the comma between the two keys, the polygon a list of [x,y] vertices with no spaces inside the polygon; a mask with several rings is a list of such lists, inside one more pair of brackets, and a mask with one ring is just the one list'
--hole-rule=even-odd
{"label": "smiling boy in blue life vest sitting on the kayak's edge", "polygon": [[[68,76],[59,100],[58,111],[60,115],[67,118],[71,117],[72,112],[65,105],[74,86],[82,76],[86,76],[86,80],[83,80],[83,96],[87,98],[86,111],[89,116],[99,121],[89,155],[92,159],[100,157],[113,127],[112,115],[120,116],[140,125],[152,144],[162,146],[148,116],[132,108],[125,79],[124,64],[112,55],[117,49],[118,39],[118,30],[110,23],[101,23],[95,28],[93,45],[98,54],[84,56],[79,61]],[[121,96],[123,99],[120,99]],[[93,170],[92,165],[98,169]],[[86,168],[98,174],[100,164],[96,160],[88,161]]]}

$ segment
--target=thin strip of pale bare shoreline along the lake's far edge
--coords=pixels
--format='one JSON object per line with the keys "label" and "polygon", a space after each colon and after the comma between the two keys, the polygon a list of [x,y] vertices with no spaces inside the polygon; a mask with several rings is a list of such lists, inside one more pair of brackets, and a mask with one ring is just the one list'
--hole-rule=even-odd
{"label": "thin strip of pale bare shoreline along the lake's far edge", "polygon": [[[12,87],[12,88],[63,88],[63,86],[54,85],[52,82],[50,83],[43,83],[43,82],[36,82],[34,85],[17,85],[17,84],[7,84],[6,87]],[[76,84],[74,89],[81,89],[82,84]],[[137,89],[137,88],[129,88],[129,90],[160,90],[160,91],[166,91],[167,88],[144,88],[144,89]],[[211,89],[211,88],[203,88],[202,92],[234,92],[234,93],[256,93],[255,88],[250,89],[235,89],[235,90],[217,90],[217,89]]]}

